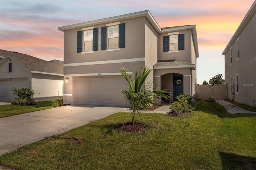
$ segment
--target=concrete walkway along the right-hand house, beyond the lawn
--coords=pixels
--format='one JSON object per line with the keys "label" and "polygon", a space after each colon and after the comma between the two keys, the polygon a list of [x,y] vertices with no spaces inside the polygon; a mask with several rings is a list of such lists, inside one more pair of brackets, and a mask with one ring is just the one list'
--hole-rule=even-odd
{"label": "concrete walkway along the right-hand house, beyond the lawn", "polygon": [[226,108],[226,110],[228,111],[228,113],[231,114],[236,114],[236,113],[256,113],[256,112],[251,112],[248,111],[246,109],[243,109],[241,107],[238,107],[228,101],[225,100],[216,100],[216,102],[220,103],[220,105],[222,105],[223,107]]}

